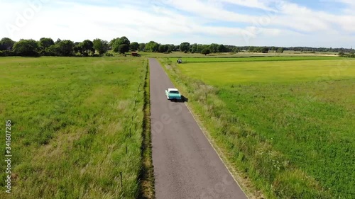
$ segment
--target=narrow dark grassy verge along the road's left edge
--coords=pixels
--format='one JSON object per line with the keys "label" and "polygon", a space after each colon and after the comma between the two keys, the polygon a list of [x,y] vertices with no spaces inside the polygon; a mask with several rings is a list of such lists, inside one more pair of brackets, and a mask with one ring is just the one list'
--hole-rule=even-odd
{"label": "narrow dark grassy verge along the road's left edge", "polygon": [[151,145],[151,97],[149,62],[147,61],[146,78],[144,84],[144,120],[143,120],[143,142],[142,142],[142,171],[141,171],[141,193],[138,198],[155,198],[154,193],[154,171]]}

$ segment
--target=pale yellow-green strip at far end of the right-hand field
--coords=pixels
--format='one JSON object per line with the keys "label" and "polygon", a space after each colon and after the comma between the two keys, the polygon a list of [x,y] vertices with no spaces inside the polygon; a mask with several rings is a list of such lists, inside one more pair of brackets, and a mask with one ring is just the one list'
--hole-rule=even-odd
{"label": "pale yellow-green strip at far end of the right-hand field", "polygon": [[[315,61],[308,60],[310,57],[307,57],[306,60],[302,60],[304,57],[283,58],[288,61],[274,61],[274,59],[264,61],[265,58],[258,57],[247,58],[247,62],[214,63],[216,59],[212,58],[212,62],[207,62],[208,59],[204,59],[206,61],[204,63],[180,64],[180,69],[185,74],[202,79],[205,83],[214,86],[257,83],[292,84],[295,81],[351,79],[355,74],[355,59],[319,57],[322,59]],[[324,60],[324,58],[326,59]],[[275,59],[279,59],[279,57],[275,57]],[[300,60],[294,61],[295,59]],[[218,58],[218,60],[222,61],[223,58]]]}

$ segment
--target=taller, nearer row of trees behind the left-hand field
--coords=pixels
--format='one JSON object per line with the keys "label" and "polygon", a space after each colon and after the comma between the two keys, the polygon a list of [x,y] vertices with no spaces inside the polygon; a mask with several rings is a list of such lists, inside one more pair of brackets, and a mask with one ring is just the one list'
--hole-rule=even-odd
{"label": "taller, nearer row of trees behind the left-hand field", "polygon": [[145,44],[130,42],[128,38],[114,38],[110,42],[102,39],[84,40],[82,42],[73,42],[71,40],[56,40],[51,38],[40,38],[40,40],[19,40],[15,42],[10,38],[0,40],[0,56],[113,56],[109,50],[124,54],[130,50],[138,50]]}

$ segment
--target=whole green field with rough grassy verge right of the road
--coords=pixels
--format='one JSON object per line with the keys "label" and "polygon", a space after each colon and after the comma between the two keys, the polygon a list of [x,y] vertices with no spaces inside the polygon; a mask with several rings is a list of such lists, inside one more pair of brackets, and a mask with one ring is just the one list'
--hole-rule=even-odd
{"label": "whole green field with rough grassy verge right of the road", "polygon": [[160,61],[251,195],[355,198],[355,59]]}

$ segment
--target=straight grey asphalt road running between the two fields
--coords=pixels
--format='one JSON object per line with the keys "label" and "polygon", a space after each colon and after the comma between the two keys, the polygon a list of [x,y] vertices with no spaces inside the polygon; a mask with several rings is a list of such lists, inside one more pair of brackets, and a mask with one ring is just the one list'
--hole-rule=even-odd
{"label": "straight grey asphalt road running between the two fields", "polygon": [[246,198],[185,103],[165,97],[175,87],[159,62],[149,63],[156,198]]}

